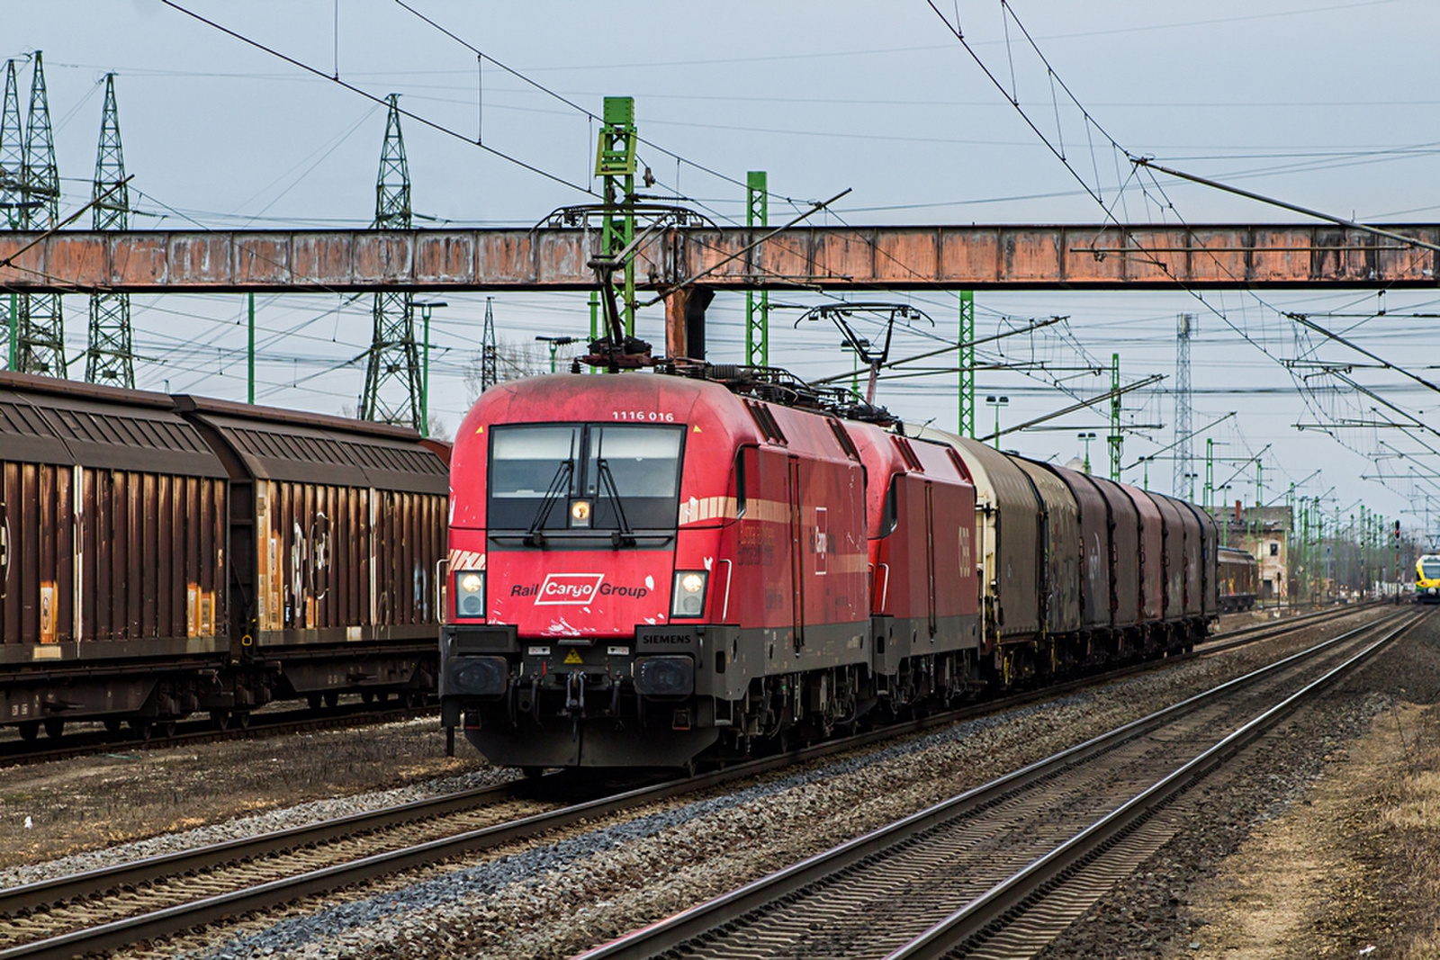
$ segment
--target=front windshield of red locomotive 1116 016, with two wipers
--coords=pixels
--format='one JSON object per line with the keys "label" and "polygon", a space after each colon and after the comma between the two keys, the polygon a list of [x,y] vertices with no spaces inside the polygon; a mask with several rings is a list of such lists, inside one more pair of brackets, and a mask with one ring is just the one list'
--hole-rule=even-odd
{"label": "front windshield of red locomotive 1116 016, with two wipers", "polygon": [[505,425],[490,448],[491,531],[674,531],[684,427]]}

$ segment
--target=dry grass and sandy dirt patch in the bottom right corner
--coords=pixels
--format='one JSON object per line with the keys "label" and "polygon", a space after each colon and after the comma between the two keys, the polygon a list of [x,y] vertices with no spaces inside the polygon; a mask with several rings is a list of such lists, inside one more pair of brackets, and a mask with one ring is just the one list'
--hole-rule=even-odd
{"label": "dry grass and sandy dirt patch in the bottom right corner", "polygon": [[1331,754],[1308,800],[1256,829],[1191,914],[1202,947],[1185,956],[1440,957],[1440,707],[1397,704]]}

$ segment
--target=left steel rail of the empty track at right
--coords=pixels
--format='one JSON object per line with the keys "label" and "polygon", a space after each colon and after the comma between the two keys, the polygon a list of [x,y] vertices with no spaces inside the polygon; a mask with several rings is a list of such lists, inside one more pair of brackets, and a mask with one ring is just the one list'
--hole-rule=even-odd
{"label": "left steel rail of the empty track at right", "polygon": [[798,864],[792,864],[791,866],[776,871],[768,877],[762,877],[760,879],[756,879],[744,887],[721,894],[714,900],[697,904],[690,910],[681,911],[672,917],[595,947],[579,954],[576,960],[632,960],[674,950],[680,944],[697,940],[723,924],[739,920],[750,911],[782,901],[801,889],[834,877],[848,866],[871,858],[887,848],[893,848],[909,838],[923,833],[943,822],[985,809],[999,802],[1002,797],[1040,784],[1053,777],[1058,770],[1073,767],[1090,757],[1107,753],[1122,743],[1140,737],[1205,702],[1223,697],[1227,692],[1250,685],[1274,674],[1276,671],[1322,653],[1335,645],[1351,640],[1365,632],[1381,629],[1385,623],[1388,623],[1388,617],[1346,630],[1339,636],[1323,640],[1297,653],[1292,653],[1290,656],[1276,661],[1274,664],[1225,681],[1224,684],[1212,687],[1208,691],[1171,704],[1169,707],[1148,714],[1146,717],[1133,720],[1128,724],[1116,727],[1115,730],[1086,740],[1084,743],[1076,744],[1067,750],[1061,750],[1050,757],[1014,770],[1002,777],[991,780],[989,783],[972,787],[948,800],[942,800],[937,805],[926,807],[917,813],[912,813],[900,820],[841,843],[829,851],[816,853],[815,856],[799,861]]}

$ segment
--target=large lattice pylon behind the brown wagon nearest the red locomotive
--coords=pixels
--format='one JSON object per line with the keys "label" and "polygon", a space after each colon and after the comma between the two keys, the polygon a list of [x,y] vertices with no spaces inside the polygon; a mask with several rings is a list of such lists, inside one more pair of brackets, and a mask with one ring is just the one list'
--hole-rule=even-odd
{"label": "large lattice pylon behind the brown wagon nearest the red locomotive", "polygon": [[[380,174],[374,184],[374,229],[410,229],[410,167],[405,160],[405,135],[400,131],[399,94],[386,98],[390,111],[384,121],[380,147]],[[416,430],[420,423],[420,351],[415,343],[415,295],[380,292],[372,309],[374,332],[366,364],[364,393],[360,394],[360,419],[405,423]]]}

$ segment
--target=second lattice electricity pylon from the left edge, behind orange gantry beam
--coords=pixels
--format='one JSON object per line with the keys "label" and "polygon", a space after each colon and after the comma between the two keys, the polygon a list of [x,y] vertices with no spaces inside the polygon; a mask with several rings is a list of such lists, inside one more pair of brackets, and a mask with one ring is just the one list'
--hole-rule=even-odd
{"label": "second lattice electricity pylon from the left edge, behind orange gantry beam", "polygon": [[[23,229],[53,229],[60,220],[60,174],[55,167],[50,104],[45,94],[45,66],[39,50],[35,52],[35,75],[30,78],[23,171]],[[17,341],[16,366],[22,373],[65,376],[65,311],[59,294],[20,296]]]}

